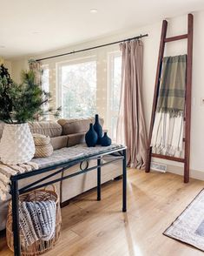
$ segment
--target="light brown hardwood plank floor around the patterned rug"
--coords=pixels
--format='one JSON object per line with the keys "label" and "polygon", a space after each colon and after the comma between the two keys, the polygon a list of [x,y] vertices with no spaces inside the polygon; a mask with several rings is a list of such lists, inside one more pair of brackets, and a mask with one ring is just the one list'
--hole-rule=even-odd
{"label": "light brown hardwood plank floor around the patterned rug", "polygon": [[[128,170],[128,212],[122,213],[122,180],[86,192],[62,209],[62,237],[45,256],[203,255],[162,235],[204,186],[172,173]],[[1,239],[0,255],[13,255]]]}

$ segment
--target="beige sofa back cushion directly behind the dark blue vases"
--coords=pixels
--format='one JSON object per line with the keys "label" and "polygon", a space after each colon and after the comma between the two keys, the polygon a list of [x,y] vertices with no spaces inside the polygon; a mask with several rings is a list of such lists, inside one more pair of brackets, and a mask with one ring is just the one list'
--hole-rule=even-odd
{"label": "beige sofa back cushion directly behind the dark blue vases", "polygon": [[[59,119],[58,124],[63,126],[63,135],[87,132],[89,124],[94,124],[95,118],[77,118],[77,119]],[[100,124],[103,125],[103,119],[100,118]]]}

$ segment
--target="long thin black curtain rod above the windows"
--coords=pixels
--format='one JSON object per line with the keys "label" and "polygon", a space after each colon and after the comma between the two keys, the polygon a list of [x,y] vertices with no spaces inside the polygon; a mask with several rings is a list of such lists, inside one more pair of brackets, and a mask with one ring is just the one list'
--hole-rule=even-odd
{"label": "long thin black curtain rod above the windows", "polygon": [[58,55],[54,55],[54,56],[50,56],[50,57],[42,57],[42,58],[36,59],[36,61],[41,61],[41,60],[54,58],[54,57],[63,57],[63,56],[66,56],[66,55],[70,55],[70,54],[74,54],[74,53],[78,53],[78,52],[82,52],[82,51],[90,51],[90,50],[94,50],[94,49],[101,48],[101,47],[104,47],[104,46],[109,46],[109,45],[112,45],[112,44],[119,44],[119,43],[127,42],[127,41],[130,41],[130,40],[139,39],[141,37],[148,37],[148,34],[123,39],[123,40],[116,41],[116,42],[109,43],[109,44],[101,44],[101,45],[97,45],[97,46],[94,46],[94,47],[90,47],[90,48],[86,48],[86,49],[82,49],[82,50],[78,50],[78,51],[69,51],[69,52],[66,52],[66,53],[63,53],[63,54],[58,54]]}

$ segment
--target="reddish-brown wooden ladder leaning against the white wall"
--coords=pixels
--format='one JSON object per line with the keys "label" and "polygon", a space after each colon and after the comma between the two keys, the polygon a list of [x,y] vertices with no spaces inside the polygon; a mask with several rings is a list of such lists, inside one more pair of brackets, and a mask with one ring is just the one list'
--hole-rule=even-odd
{"label": "reddish-brown wooden ladder leaning against the white wall", "polygon": [[[157,63],[156,77],[155,77],[155,94],[153,99],[153,107],[152,107],[152,115],[151,115],[151,123],[149,128],[148,135],[148,154],[147,154],[147,165],[146,172],[150,172],[150,164],[151,158],[163,158],[167,160],[172,160],[176,162],[181,162],[184,164],[184,183],[188,183],[189,181],[189,160],[190,160],[190,125],[191,125],[191,87],[192,87],[192,57],[193,57],[193,26],[194,26],[194,16],[192,14],[188,14],[188,33],[176,37],[166,37],[168,22],[163,20],[162,29],[161,29],[161,41],[160,41],[160,49],[159,49],[159,57]],[[168,42],[173,42],[176,40],[188,39],[188,57],[187,57],[187,83],[186,83],[186,107],[185,107],[185,138],[183,138],[185,144],[185,152],[184,158],[176,158],[170,157],[161,154],[152,153],[151,147],[151,139],[152,132],[154,128],[155,122],[155,111],[156,104],[158,98],[158,91],[160,87],[160,79],[161,79],[161,68],[162,68],[162,59],[164,55],[164,47]]]}

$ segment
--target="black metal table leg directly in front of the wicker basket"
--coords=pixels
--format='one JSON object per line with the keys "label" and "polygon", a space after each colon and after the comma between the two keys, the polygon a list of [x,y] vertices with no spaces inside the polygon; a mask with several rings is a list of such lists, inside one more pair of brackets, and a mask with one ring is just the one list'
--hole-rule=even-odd
{"label": "black metal table leg directly in front of the wicker basket", "polygon": [[21,255],[20,245],[20,230],[19,230],[19,192],[18,192],[18,181],[11,181],[11,195],[12,195],[12,218],[13,218],[13,238],[14,238],[14,255]]}

